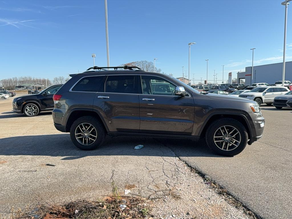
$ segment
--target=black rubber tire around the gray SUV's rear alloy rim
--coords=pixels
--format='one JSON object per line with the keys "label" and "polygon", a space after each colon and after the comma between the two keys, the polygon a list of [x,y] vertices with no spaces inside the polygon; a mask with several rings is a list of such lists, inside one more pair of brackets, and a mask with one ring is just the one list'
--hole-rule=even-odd
{"label": "black rubber tire around the gray SUV's rear alloy rim", "polygon": [[[89,125],[92,125],[95,128],[95,129],[93,129],[93,132],[92,132],[93,136],[96,134],[97,137],[94,138],[93,136],[91,136],[92,134],[90,134],[90,133],[88,133],[86,135],[86,132],[84,132],[84,134],[75,136],[75,134],[79,133],[79,131],[80,131],[80,133],[82,132],[81,129],[78,128],[79,125],[81,125],[81,127],[83,127],[82,124],[84,124],[84,128],[88,129],[87,132],[89,132],[91,130],[91,126],[89,126]],[[86,126],[86,124],[89,124],[89,125]],[[94,150],[94,149],[96,149],[105,140],[105,135],[106,135],[106,132],[105,132],[105,128],[103,127],[103,125],[100,123],[100,121],[98,121],[95,117],[92,117],[92,116],[80,117],[76,121],[74,121],[72,126],[70,127],[71,140],[74,143],[74,145],[81,150]],[[84,136],[84,137],[81,138],[81,136]],[[89,137],[91,137],[95,141],[90,143],[91,140],[87,139],[88,145],[83,145],[82,143],[86,144],[86,142],[85,142],[86,138],[89,138]],[[81,142],[81,140],[79,142],[79,140],[77,140],[77,138],[82,139],[83,142]],[[85,141],[84,141],[84,139],[85,139]]]}

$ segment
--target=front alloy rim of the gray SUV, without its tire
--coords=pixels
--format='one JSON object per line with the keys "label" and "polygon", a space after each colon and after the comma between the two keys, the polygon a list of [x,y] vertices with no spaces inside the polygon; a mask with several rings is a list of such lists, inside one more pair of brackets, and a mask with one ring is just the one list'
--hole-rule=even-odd
{"label": "front alloy rim of the gray SUV, without its tire", "polygon": [[215,145],[223,151],[232,151],[241,142],[241,135],[237,128],[233,126],[221,126],[214,134]]}

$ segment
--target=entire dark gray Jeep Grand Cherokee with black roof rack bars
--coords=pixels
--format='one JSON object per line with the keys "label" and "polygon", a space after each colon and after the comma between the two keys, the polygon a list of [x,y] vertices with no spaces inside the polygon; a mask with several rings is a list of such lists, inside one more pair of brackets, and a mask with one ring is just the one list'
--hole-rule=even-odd
{"label": "entire dark gray Jeep Grand Cherokee with black roof rack bars", "polygon": [[265,119],[253,100],[201,94],[166,74],[92,67],[71,77],[53,97],[53,120],[82,150],[106,135],[143,135],[206,138],[215,153],[233,156],[263,134]]}

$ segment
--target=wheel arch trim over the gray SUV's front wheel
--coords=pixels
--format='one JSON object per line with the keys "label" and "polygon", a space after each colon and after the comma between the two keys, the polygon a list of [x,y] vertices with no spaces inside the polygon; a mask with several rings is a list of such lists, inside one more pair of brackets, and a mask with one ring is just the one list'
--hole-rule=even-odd
{"label": "wheel arch trim over the gray SUV's front wheel", "polygon": [[212,113],[211,115],[208,116],[203,126],[201,127],[199,131],[199,136],[203,137],[206,134],[208,127],[213,123],[213,121],[217,119],[222,119],[222,118],[235,119],[241,122],[241,124],[243,124],[244,127],[246,128],[248,138],[251,139],[251,137],[253,136],[252,129],[251,129],[250,123],[248,122],[247,117],[244,114],[241,114],[239,112],[238,113],[237,112]]}

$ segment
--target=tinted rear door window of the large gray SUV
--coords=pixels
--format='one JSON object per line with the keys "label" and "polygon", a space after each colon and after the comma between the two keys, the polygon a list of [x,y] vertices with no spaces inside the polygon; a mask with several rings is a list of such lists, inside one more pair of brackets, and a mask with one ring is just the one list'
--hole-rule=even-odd
{"label": "tinted rear door window of the large gray SUV", "polygon": [[134,75],[111,75],[105,82],[106,93],[135,93]]}

